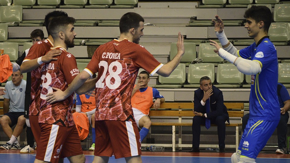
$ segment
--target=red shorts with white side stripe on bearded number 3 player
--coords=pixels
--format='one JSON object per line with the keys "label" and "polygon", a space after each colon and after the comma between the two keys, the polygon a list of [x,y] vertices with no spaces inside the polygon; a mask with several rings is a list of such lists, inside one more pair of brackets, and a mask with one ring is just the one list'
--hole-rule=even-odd
{"label": "red shorts with white side stripe on bearded number 3 player", "polygon": [[75,125],[66,127],[46,123],[39,124],[41,136],[35,158],[48,162],[58,162],[59,158],[83,154],[79,133]]}

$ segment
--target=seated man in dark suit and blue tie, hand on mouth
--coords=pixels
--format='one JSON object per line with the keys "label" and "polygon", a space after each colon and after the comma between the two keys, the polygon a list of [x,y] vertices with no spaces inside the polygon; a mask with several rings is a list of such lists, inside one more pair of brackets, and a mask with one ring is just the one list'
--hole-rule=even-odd
{"label": "seated man in dark suit and blue tie, hand on mouth", "polygon": [[208,129],[213,123],[218,126],[218,145],[220,152],[224,153],[225,122],[230,123],[230,120],[227,107],[224,105],[223,93],[211,84],[211,79],[207,76],[202,77],[199,83],[200,88],[194,91],[195,116],[192,118],[192,149],[188,152],[199,152],[200,125],[205,125]]}

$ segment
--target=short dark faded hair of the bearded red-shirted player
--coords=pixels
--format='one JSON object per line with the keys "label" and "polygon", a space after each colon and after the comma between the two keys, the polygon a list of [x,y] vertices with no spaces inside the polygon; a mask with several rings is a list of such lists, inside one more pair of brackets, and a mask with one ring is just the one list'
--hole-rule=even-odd
{"label": "short dark faded hair of the bearded red-shirted player", "polygon": [[75,21],[76,21],[75,18],[66,16],[59,16],[51,19],[48,25],[50,35],[52,36],[53,39],[56,39],[58,37],[59,32],[61,31],[64,32],[66,30],[67,25],[74,24]]}

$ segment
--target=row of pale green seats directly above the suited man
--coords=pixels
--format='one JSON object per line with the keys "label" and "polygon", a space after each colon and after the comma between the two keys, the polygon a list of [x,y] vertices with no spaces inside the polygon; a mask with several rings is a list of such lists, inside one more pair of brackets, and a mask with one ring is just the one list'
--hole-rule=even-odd
{"label": "row of pale green seats directly above the suited man", "polygon": [[[186,66],[180,63],[169,77],[158,76],[159,85],[156,88],[198,88],[199,80],[203,76],[208,76],[211,81],[216,79],[217,87],[240,88],[249,87],[251,76],[241,73],[236,66],[231,63],[218,64],[215,73],[215,65],[212,63],[190,64],[188,66],[186,82]],[[278,82],[290,84],[290,63],[279,63]],[[216,77],[215,77],[216,74]],[[244,77],[245,76],[245,77]],[[245,81],[244,81],[245,79]]]}

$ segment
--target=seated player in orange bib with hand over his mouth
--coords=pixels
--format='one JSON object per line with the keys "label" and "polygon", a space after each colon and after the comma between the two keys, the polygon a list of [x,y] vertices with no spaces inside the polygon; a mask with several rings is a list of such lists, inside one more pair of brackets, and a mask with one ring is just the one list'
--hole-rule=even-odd
{"label": "seated player in orange bib with hand over his mouth", "polygon": [[[131,105],[134,118],[138,128],[141,129],[139,132],[141,142],[147,136],[151,127],[151,120],[147,116],[150,107],[153,105],[155,110],[157,110],[160,107],[160,103],[165,102],[164,97],[160,95],[156,88],[148,86],[149,81],[149,73],[147,71],[140,72],[138,83],[134,86],[131,94]],[[153,99],[156,99],[154,103]]]}

